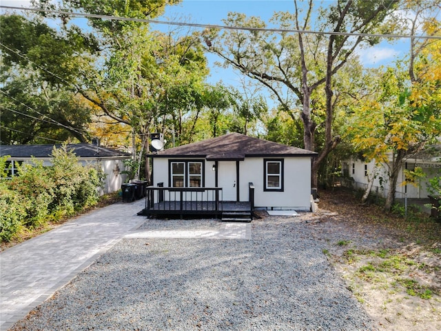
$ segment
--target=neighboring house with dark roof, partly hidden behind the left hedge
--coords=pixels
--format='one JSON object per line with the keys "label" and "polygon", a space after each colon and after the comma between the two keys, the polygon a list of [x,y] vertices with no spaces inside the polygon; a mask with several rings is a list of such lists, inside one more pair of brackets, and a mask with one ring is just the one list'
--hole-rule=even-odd
{"label": "neighboring house with dark roof, partly hidden behind the left hedge", "polygon": [[[17,172],[17,165],[32,161],[32,157],[43,161],[43,165],[52,165],[51,154],[54,147],[60,148],[61,145],[0,145],[0,157],[10,156],[6,168],[12,177]],[[99,188],[99,194],[121,189],[121,184],[127,178],[126,174],[121,174],[125,170],[123,160],[130,159],[131,154],[90,143],[68,144],[67,148],[75,153],[81,164],[92,165],[105,173],[104,185]]]}

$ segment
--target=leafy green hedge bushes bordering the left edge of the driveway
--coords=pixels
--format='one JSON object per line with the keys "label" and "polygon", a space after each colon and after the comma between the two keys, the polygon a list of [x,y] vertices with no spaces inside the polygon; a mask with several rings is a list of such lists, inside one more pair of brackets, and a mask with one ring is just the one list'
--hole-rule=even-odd
{"label": "leafy green hedge bushes bordering the left edge of the driveway", "polygon": [[73,152],[52,151],[52,166],[23,164],[19,175],[0,181],[0,239],[10,241],[22,228],[39,228],[98,201],[100,173],[79,163]]}

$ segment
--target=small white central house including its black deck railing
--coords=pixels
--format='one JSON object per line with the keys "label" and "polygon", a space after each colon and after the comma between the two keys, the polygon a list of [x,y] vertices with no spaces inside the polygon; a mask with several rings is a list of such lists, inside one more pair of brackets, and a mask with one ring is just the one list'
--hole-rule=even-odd
{"label": "small white central house including its black deck railing", "polygon": [[160,208],[208,214],[213,212],[209,203],[223,217],[240,203],[251,203],[254,210],[311,208],[311,158],[316,153],[309,150],[229,133],[151,156],[147,216],[161,213]]}

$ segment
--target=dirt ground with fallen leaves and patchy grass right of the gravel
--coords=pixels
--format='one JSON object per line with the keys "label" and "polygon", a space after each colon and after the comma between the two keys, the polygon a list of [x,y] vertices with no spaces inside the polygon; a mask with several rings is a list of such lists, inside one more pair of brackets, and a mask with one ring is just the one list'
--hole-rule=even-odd
{"label": "dirt ground with fallen leaves and patchy grass right of the gravel", "polygon": [[320,192],[306,221],[380,330],[441,330],[441,224],[359,205],[347,191]]}

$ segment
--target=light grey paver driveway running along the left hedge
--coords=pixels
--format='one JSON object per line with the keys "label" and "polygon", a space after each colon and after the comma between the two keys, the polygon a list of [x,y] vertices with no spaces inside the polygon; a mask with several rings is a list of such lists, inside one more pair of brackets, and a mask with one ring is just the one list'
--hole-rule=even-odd
{"label": "light grey paver driveway running along the left hedge", "polygon": [[145,217],[136,215],[144,205],[143,199],[115,203],[1,252],[0,330],[23,319],[145,222]]}

